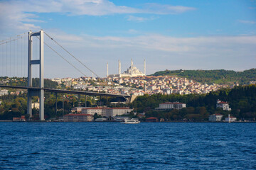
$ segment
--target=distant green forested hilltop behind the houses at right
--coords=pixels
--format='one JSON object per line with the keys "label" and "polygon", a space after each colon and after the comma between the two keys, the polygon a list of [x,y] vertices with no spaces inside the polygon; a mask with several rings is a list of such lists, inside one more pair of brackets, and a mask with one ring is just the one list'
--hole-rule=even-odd
{"label": "distant green forested hilltop behind the houses at right", "polygon": [[224,69],[216,70],[165,70],[152,74],[153,76],[178,76],[193,79],[201,83],[208,84],[248,84],[249,81],[255,81],[256,69],[249,69],[243,72],[235,72]]}

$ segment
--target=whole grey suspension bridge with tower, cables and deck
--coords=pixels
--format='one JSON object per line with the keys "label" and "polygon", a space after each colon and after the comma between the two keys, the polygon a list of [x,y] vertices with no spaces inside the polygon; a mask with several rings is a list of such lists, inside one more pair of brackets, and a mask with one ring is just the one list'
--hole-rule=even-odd
{"label": "whole grey suspension bridge with tower, cables and deck", "polygon": [[[58,45],[65,53],[71,56],[75,61],[77,61],[82,67],[85,67],[91,74],[99,77],[92,69],[87,67],[83,62],[81,62],[77,57],[71,54],[68,50],[60,45],[59,42],[54,40],[48,33],[40,30],[36,33],[31,31],[26,33],[16,35],[14,37],[1,40],[0,41],[0,50],[1,50],[1,69],[0,75],[2,77],[27,77],[28,84],[27,86],[7,86],[0,85],[1,88],[11,88],[11,89],[26,89],[27,90],[27,113],[32,117],[32,97],[39,97],[39,118],[40,120],[44,119],[44,92],[52,92],[56,94],[78,94],[78,100],[80,95],[87,96],[102,96],[107,97],[122,97],[129,98],[128,95],[122,94],[105,94],[105,93],[96,93],[91,91],[74,91],[74,90],[65,90],[65,89],[48,89],[44,87],[44,45],[48,47],[49,50],[61,57],[65,62],[70,64],[73,69],[77,70],[86,77],[86,74],[83,72],[83,69],[77,67],[77,64],[70,62],[67,57],[64,57],[60,52],[55,50],[52,45],[48,44],[44,40],[44,35],[48,37],[55,45]],[[33,39],[34,38],[34,39]],[[33,49],[33,47],[35,49]],[[32,69],[33,68],[33,69]],[[33,77],[39,77],[40,83],[38,87],[34,87],[32,84]],[[86,102],[85,102],[86,103]],[[56,105],[57,107],[57,105]],[[64,102],[63,102],[64,108]],[[56,110],[57,111],[57,108]],[[64,111],[64,110],[63,110]]]}

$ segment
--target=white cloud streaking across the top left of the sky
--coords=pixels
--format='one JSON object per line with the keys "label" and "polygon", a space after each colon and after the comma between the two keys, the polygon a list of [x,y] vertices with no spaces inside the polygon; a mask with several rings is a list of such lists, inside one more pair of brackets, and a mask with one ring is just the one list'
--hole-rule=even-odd
{"label": "white cloud streaking across the top left of the sky", "polygon": [[[108,0],[26,0],[0,1],[0,31],[17,30],[17,32],[38,29],[37,13],[60,13],[71,16],[104,16],[115,13],[183,13],[194,8],[186,6],[169,6],[146,4],[143,8],[117,6]],[[130,16],[130,21],[145,21],[154,18]],[[29,24],[28,24],[29,23]],[[37,23],[37,25],[35,25]]]}

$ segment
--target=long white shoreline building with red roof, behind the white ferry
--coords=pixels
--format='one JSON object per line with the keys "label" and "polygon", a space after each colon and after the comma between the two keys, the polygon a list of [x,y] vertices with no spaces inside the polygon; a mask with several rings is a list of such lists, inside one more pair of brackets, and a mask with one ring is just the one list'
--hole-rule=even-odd
{"label": "long white shoreline building with red roof, behind the white ferry", "polygon": [[115,117],[117,115],[125,115],[127,113],[130,113],[131,111],[133,111],[132,108],[82,108],[83,114],[94,115],[95,113],[97,113],[98,115],[102,115],[107,118]]}

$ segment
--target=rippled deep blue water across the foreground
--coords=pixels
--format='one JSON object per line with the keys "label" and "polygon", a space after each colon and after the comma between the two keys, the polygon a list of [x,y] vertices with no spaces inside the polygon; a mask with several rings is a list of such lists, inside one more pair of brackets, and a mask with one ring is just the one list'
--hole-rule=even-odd
{"label": "rippled deep blue water across the foreground", "polygon": [[256,169],[256,123],[0,123],[0,169]]}

